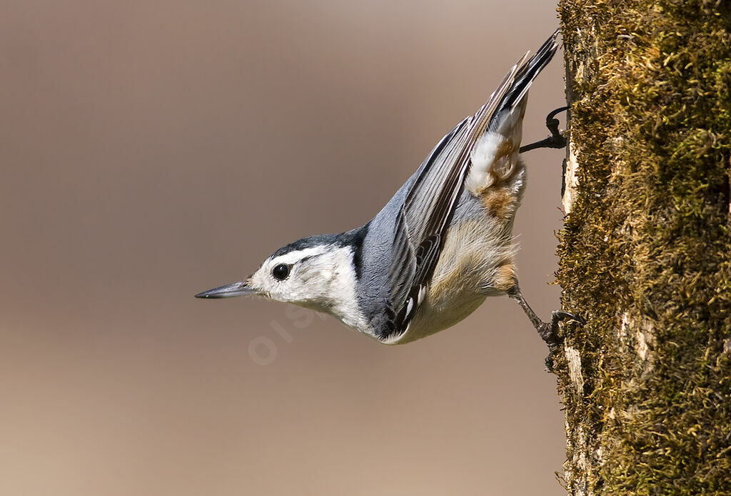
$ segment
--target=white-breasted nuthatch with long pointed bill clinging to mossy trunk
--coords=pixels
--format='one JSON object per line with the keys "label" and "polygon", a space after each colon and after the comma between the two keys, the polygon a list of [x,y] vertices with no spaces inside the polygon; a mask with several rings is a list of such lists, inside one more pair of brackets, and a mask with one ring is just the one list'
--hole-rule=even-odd
{"label": "white-breasted nuthatch with long pointed bill clinging to mossy trunk", "polygon": [[435,334],[485,298],[509,296],[555,346],[558,323],[578,318],[554,311],[545,322],[531,309],[515,273],[512,228],[526,187],[520,141],[528,90],[556,53],[557,37],[558,30],[533,56],[521,57],[366,225],[294,241],[248,279],[195,296],[296,304],[385,345]]}

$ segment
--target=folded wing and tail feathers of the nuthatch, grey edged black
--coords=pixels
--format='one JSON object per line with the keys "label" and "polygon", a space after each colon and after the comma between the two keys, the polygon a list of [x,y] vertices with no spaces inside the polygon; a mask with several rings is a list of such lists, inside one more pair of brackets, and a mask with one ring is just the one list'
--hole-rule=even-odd
{"label": "folded wing and tail feathers of the nuthatch, grey edged black", "polygon": [[531,59],[526,53],[510,69],[488,102],[454,127],[426,158],[406,195],[395,225],[388,284],[390,329],[383,339],[399,336],[423,302],[442,252],[470,166],[470,152],[493,117],[512,109],[537,73],[556,52],[556,34]]}

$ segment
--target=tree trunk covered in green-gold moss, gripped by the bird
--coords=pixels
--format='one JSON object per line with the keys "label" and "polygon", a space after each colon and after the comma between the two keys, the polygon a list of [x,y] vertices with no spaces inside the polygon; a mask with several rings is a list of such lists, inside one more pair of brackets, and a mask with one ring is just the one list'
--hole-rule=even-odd
{"label": "tree trunk covered in green-gold moss, gripped by the bird", "polygon": [[562,0],[572,495],[731,495],[731,6]]}

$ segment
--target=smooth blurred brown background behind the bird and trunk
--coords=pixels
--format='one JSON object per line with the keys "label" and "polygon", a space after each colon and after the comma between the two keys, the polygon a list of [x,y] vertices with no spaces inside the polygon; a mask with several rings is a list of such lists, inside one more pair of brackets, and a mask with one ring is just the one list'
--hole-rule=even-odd
{"label": "smooth blurred brown background behind the bird and trunk", "polygon": [[[558,22],[553,1],[6,0],[0,494],[561,495],[520,308],[385,347],[194,293],[366,222]],[[525,141],[561,105],[561,56]],[[563,151],[515,233],[540,315]]]}

